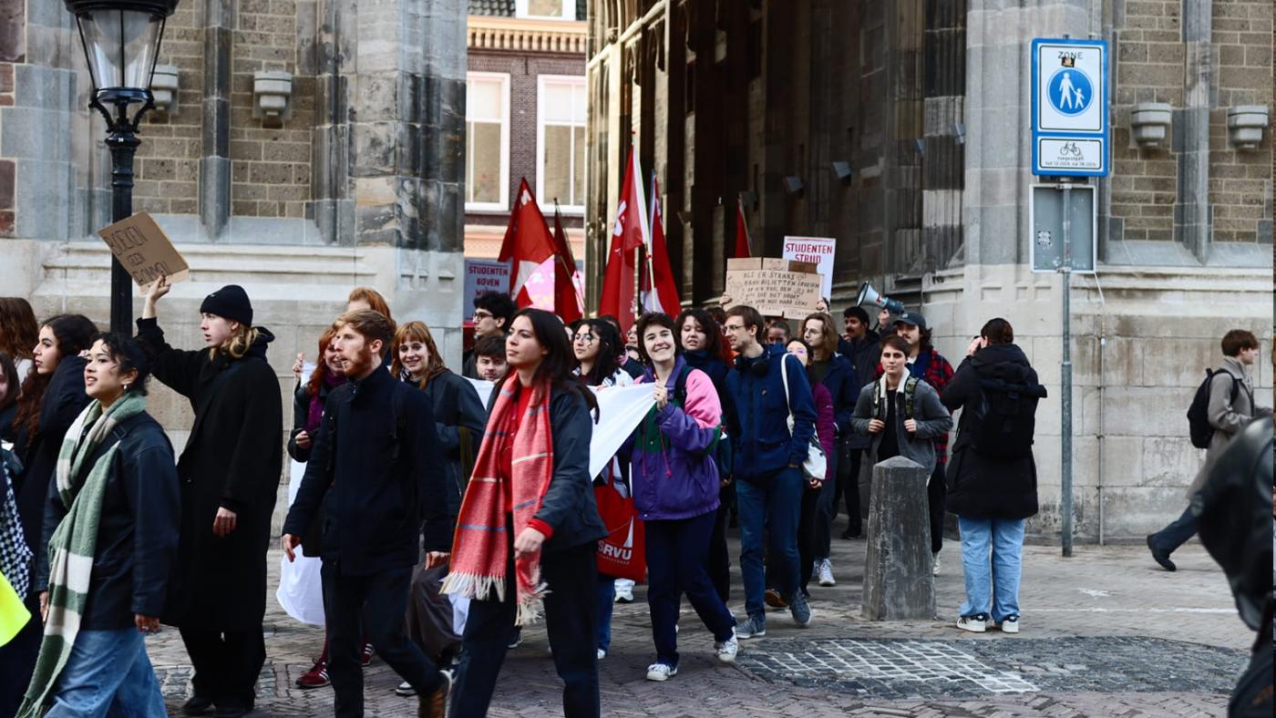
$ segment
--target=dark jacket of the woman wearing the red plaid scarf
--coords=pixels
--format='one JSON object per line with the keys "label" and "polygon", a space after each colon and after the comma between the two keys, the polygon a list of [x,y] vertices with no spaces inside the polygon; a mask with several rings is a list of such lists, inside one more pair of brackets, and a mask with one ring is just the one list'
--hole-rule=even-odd
{"label": "dark jacket of the woman wearing the red plaid scarf", "polygon": [[[517,379],[514,386],[519,386]],[[593,477],[590,476],[593,414],[581,392],[588,389],[555,388],[550,393],[554,473],[550,476],[550,486],[545,490],[541,508],[533,517],[554,531],[541,548],[546,553],[597,542],[607,536],[607,529],[598,518],[598,505],[593,500]],[[499,395],[498,386],[487,399],[489,417]],[[517,399],[517,394],[514,398]]]}

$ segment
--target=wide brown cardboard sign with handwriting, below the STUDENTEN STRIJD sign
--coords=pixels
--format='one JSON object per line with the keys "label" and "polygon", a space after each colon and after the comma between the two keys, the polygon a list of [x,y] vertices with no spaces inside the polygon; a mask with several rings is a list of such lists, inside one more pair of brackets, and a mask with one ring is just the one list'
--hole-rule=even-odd
{"label": "wide brown cardboard sign with handwriting, below the STUDENTEN STRIJD sign", "polygon": [[815,311],[820,275],[817,265],[789,259],[726,260],[726,293],[732,304],[749,305],[763,316],[801,319]]}

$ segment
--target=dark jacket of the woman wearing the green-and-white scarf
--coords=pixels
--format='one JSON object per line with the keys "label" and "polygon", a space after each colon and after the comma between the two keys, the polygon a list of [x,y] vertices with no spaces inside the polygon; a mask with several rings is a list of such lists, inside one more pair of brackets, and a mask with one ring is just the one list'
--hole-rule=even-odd
{"label": "dark jacket of the woman wearing the green-and-white scarf", "polygon": [[[177,557],[181,500],[168,436],[151,414],[134,414],[98,445],[85,460],[85,471],[116,444],[102,494],[97,550],[80,625],[84,630],[126,629],[134,625],[134,613],[160,616]],[[50,481],[41,546],[48,546],[68,510],[57,482]],[[40,551],[36,559],[32,585],[37,592],[47,590],[48,551]]]}

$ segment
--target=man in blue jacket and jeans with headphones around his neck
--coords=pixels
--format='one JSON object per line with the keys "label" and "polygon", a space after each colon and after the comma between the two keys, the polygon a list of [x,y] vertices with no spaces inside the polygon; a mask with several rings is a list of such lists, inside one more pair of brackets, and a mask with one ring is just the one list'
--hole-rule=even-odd
{"label": "man in blue jacket and jeans with headphones around his neck", "polygon": [[[763,320],[758,310],[745,305],[731,307],[725,328],[738,353],[735,370],[726,379],[731,397],[726,426],[735,457],[740,574],[748,613],[736,635],[748,639],[767,633],[762,566],[767,531],[771,532],[768,556],[776,588],[789,603],[794,622],[800,627],[810,625],[810,606],[798,585],[798,520],[805,485],[801,465],[815,431],[815,404],[798,358],[787,356],[783,346],[763,346]],[[787,370],[781,369],[782,362],[787,362]],[[790,414],[794,417],[791,432]]]}

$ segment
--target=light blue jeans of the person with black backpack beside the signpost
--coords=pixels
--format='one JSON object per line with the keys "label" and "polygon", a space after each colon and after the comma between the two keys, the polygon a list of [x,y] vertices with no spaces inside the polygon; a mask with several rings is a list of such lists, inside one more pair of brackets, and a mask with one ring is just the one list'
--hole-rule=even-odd
{"label": "light blue jeans of the person with black backpack beside the signpost", "polygon": [[[957,518],[961,529],[961,565],[966,578],[962,616],[989,613],[1000,622],[1020,615],[1023,519]],[[989,565],[988,551],[993,560]]]}

